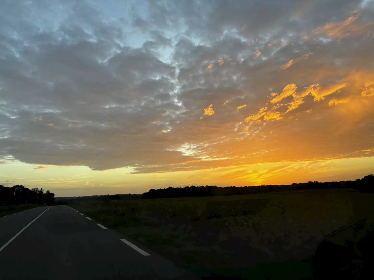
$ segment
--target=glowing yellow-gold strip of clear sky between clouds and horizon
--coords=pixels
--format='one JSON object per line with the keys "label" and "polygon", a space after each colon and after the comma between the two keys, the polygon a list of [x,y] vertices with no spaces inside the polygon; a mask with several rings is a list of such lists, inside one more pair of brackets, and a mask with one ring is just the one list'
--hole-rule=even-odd
{"label": "glowing yellow-gold strip of clear sky between clouds and horizon", "polygon": [[[374,149],[366,152],[374,154]],[[12,183],[4,185],[23,184],[28,188],[43,187],[43,189],[51,190],[58,197],[106,193],[141,194],[150,189],[163,189],[169,186],[239,187],[308,181],[355,180],[373,173],[374,156],[309,162],[275,162],[148,174],[131,174],[133,171],[131,168],[92,171],[84,166],[49,165],[46,169],[38,170],[34,166],[22,162],[4,164],[3,172],[6,172],[7,178],[12,180]],[[1,175],[0,180],[4,178],[4,175]]]}

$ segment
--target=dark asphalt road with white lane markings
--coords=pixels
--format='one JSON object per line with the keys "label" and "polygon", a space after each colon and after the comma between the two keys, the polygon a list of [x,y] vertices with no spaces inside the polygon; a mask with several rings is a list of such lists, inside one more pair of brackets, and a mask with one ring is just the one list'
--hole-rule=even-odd
{"label": "dark asphalt road with white lane markings", "polygon": [[62,205],[0,218],[0,279],[198,278],[123,234]]}

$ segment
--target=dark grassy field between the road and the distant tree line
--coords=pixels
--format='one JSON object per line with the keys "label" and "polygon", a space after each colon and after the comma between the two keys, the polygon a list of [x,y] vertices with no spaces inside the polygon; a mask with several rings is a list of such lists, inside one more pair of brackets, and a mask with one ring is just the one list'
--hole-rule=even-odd
{"label": "dark grassy field between the road and the distant tree line", "polygon": [[373,196],[327,189],[72,206],[202,279],[310,279],[316,245],[373,213]]}

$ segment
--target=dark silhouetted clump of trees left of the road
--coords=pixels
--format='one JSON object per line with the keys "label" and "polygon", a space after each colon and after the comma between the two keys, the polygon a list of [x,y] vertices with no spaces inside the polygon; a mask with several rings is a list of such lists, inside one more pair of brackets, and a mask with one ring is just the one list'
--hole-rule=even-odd
{"label": "dark silhouetted clump of trees left of the road", "polygon": [[54,205],[55,194],[43,188],[28,189],[22,185],[4,187],[0,185],[0,206],[16,204]]}

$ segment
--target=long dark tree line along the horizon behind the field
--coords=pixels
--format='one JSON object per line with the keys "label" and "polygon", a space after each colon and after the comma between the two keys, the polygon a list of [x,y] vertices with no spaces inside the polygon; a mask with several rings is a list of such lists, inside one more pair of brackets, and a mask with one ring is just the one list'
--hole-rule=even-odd
{"label": "long dark tree line along the horizon behind the field", "polygon": [[151,189],[142,194],[142,199],[149,198],[171,198],[171,197],[194,197],[194,196],[227,196],[227,195],[249,195],[255,193],[285,192],[292,190],[307,189],[334,189],[352,188],[361,193],[374,193],[374,175],[370,174],[355,181],[333,181],[318,182],[309,181],[307,183],[293,183],[290,185],[262,185],[244,187],[217,187],[217,186],[187,186],[168,187],[164,189]]}

